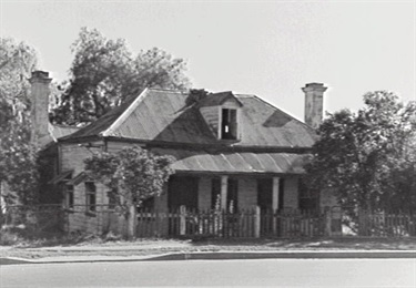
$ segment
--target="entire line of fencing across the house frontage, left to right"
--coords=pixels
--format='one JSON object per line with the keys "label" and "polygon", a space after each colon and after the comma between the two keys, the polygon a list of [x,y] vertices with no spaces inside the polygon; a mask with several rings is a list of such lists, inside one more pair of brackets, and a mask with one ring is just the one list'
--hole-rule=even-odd
{"label": "entire line of fencing across the house frontage, left to right", "polygon": [[[64,209],[61,205],[8,206],[0,213],[0,226],[24,226],[35,232],[88,232],[123,235],[126,220],[116,207],[78,205]],[[190,210],[181,207],[170,213],[140,209],[136,214],[136,237],[408,237],[416,236],[416,215],[404,213],[368,213],[361,210],[354,232],[342,229],[344,212],[334,207],[325,212],[241,209]]]}

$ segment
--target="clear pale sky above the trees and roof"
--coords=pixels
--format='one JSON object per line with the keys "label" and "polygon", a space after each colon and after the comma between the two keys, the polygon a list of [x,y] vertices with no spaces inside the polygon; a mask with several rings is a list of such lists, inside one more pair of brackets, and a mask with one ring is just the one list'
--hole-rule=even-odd
{"label": "clear pale sky above the trees and roof", "polygon": [[328,112],[376,90],[416,100],[416,0],[0,0],[0,35],[33,45],[57,80],[81,27],[185,59],[193,88],[255,94],[300,120],[311,82],[328,86]]}

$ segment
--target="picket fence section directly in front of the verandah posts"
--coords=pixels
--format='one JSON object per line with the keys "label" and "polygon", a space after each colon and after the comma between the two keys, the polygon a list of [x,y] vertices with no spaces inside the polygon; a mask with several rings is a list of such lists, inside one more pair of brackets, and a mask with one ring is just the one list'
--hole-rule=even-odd
{"label": "picket fence section directly in front of the verandah posts", "polygon": [[171,213],[142,210],[138,213],[138,237],[202,236],[220,238],[315,237],[325,234],[325,214],[307,212],[261,212],[242,209],[186,210]]}

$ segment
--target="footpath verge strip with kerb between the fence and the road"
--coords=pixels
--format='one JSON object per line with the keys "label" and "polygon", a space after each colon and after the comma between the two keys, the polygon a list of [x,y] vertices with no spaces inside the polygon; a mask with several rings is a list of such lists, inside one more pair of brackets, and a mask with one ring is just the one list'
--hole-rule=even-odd
{"label": "footpath verge strip with kerb between the fence and the road", "polygon": [[414,258],[416,239],[136,240],[0,246],[0,265],[210,259]]}

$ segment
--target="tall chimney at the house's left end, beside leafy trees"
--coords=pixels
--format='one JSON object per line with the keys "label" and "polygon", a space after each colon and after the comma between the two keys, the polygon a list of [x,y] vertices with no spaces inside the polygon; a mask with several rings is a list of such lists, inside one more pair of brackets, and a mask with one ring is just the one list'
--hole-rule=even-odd
{"label": "tall chimney at the house's left end, beside leafy trees", "polygon": [[31,120],[32,120],[32,135],[31,141],[38,147],[42,147],[52,141],[49,134],[49,84],[52,79],[49,78],[48,72],[34,71],[32,78],[29,79],[31,84]]}

